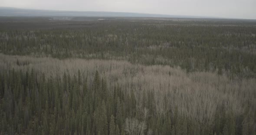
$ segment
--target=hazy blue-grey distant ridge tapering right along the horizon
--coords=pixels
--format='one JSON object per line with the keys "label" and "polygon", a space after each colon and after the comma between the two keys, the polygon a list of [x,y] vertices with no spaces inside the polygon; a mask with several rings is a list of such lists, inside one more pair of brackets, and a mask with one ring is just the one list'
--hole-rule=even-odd
{"label": "hazy blue-grey distant ridge tapering right along the horizon", "polygon": [[166,18],[206,18],[200,16],[175,16],[147,13],[102,12],[102,11],[59,11],[33,10],[15,7],[0,7],[0,16],[97,16],[97,17],[166,17]]}

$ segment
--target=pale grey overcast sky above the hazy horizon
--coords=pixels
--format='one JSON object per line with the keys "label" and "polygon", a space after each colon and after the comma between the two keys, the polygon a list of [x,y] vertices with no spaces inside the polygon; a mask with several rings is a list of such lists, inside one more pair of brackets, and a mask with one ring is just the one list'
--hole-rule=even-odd
{"label": "pale grey overcast sky above the hazy horizon", "polygon": [[0,0],[0,6],[256,19],[256,0]]}

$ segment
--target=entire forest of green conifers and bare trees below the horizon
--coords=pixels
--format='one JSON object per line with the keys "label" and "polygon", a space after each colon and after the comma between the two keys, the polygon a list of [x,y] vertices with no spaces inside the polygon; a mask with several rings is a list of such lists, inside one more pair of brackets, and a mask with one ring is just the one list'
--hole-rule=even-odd
{"label": "entire forest of green conifers and bare trees below the horizon", "polygon": [[0,135],[256,135],[256,21],[0,18]]}

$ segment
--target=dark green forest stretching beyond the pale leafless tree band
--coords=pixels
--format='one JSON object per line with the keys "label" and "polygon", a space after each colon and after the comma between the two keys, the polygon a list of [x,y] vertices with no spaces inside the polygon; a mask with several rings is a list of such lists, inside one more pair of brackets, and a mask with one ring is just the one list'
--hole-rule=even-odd
{"label": "dark green forest stretching beyond the pale leafless tree band", "polygon": [[[57,23],[60,27],[65,25],[58,29],[1,30],[0,51],[61,59],[126,59],[146,65],[180,66],[188,72],[217,71],[230,77],[256,77],[253,25],[150,19],[53,22]],[[49,22],[47,25],[52,26]]]}

